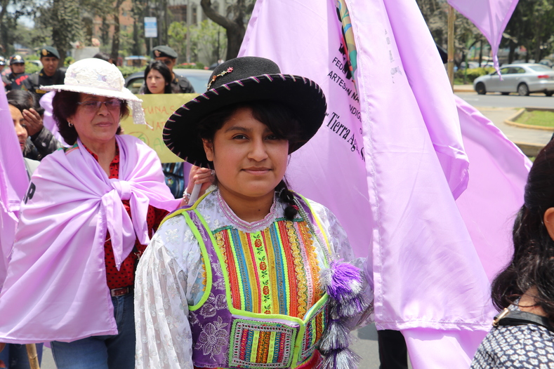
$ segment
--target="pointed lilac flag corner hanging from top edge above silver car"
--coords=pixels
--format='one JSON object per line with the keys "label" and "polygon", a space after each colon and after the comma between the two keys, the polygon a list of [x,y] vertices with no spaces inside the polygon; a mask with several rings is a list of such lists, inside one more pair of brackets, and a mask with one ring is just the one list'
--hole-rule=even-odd
{"label": "pointed lilac flag corner hanging from top edge above silver car", "polygon": [[468,18],[491,44],[494,67],[499,68],[498,51],[502,33],[517,5],[517,0],[448,0],[456,11]]}

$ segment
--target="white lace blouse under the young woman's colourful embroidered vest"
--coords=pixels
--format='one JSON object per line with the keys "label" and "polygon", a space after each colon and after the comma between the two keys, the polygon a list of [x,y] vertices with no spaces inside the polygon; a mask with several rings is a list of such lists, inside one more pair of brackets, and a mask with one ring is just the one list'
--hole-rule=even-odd
{"label": "white lace blouse under the young woman's colourful embroidered vest", "polygon": [[[327,232],[331,253],[353,260],[352,248],[336,217],[319,203],[308,203]],[[232,213],[216,189],[197,210],[209,229],[230,225],[243,232],[258,232],[283,217],[285,206],[275,200],[263,220],[248,223]],[[322,248],[316,240],[314,245],[319,267],[323,267]],[[193,368],[189,306],[202,298],[204,274],[200,247],[185,217],[171,217],[154,234],[136,270],[136,368]]]}

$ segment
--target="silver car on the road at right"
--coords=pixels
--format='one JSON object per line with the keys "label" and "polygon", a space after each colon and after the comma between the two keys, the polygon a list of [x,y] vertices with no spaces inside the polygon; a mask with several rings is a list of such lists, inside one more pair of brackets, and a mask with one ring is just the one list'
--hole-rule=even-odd
{"label": "silver car on the road at right", "polygon": [[541,64],[508,64],[500,69],[502,81],[497,72],[480,76],[473,81],[473,88],[479,95],[499,92],[502,95],[541,92],[546,96],[554,94],[554,70]]}

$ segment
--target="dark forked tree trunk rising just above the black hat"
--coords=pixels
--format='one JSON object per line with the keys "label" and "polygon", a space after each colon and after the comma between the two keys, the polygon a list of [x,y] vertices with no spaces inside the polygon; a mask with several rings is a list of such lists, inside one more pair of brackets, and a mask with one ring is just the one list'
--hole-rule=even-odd
{"label": "dark forked tree trunk rising just above the black hat", "polygon": [[201,0],[200,5],[208,18],[225,28],[227,35],[227,56],[226,60],[237,58],[246,25],[252,13],[256,0],[236,0],[227,6],[227,15],[219,14],[212,8],[211,0]]}

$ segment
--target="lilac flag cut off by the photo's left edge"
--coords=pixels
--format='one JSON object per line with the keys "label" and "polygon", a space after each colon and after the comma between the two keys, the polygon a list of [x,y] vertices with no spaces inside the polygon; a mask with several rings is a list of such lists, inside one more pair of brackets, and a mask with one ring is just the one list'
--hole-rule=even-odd
{"label": "lilac flag cut off by the photo's left edge", "polygon": [[6,278],[21,199],[29,186],[4,88],[0,88],[0,290]]}

